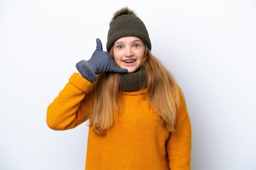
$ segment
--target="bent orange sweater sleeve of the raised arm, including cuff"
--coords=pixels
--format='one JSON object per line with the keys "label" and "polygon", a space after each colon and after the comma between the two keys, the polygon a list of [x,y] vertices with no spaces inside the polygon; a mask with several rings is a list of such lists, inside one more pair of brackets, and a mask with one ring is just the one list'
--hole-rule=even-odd
{"label": "bent orange sweater sleeve of the raised arm, including cuff", "polygon": [[47,109],[46,122],[54,130],[72,129],[85,122],[92,83],[74,73]]}

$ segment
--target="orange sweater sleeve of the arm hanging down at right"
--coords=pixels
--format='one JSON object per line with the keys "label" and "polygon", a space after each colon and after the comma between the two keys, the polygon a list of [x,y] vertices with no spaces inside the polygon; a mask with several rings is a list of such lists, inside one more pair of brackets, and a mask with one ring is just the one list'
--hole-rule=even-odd
{"label": "orange sweater sleeve of the arm hanging down at right", "polygon": [[186,102],[180,89],[180,107],[177,109],[175,132],[170,133],[166,150],[171,170],[190,170],[191,124]]}

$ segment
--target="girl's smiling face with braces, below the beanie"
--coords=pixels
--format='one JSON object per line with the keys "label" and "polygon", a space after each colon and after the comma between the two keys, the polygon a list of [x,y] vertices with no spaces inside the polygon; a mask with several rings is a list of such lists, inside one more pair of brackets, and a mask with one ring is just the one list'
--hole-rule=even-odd
{"label": "girl's smiling face with braces, below the beanie", "polygon": [[126,68],[128,73],[135,72],[142,64],[145,46],[137,37],[122,37],[113,45],[114,59],[119,68]]}

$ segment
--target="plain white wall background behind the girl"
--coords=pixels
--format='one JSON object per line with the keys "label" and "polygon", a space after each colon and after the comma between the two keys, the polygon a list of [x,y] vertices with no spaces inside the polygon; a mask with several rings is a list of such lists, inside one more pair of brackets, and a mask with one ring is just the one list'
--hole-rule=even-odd
{"label": "plain white wall background behind the girl", "polygon": [[54,131],[46,111],[125,6],[184,92],[191,169],[255,170],[254,0],[0,0],[0,170],[84,170],[86,123]]}

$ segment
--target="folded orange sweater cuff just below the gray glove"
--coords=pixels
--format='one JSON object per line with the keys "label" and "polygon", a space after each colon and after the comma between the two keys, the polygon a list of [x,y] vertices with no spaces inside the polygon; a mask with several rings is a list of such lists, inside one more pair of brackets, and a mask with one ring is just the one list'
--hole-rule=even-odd
{"label": "folded orange sweater cuff just below the gray glove", "polygon": [[78,73],[72,74],[69,78],[69,82],[83,92],[89,92],[92,88],[92,83],[80,76]]}

